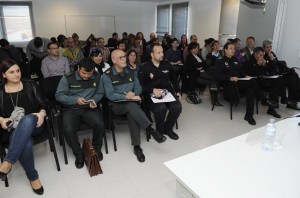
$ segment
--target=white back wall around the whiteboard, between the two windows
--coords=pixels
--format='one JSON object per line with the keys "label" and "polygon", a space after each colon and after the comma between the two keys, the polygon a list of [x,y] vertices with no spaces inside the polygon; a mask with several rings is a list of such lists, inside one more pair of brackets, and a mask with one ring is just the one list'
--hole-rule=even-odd
{"label": "white back wall around the whiteboard, between the two windows", "polygon": [[[64,15],[105,15],[115,16],[116,31],[136,33],[142,31],[146,39],[155,29],[156,3],[131,2],[116,0],[32,0],[36,35],[44,37],[66,34]],[[90,24],[78,24],[82,29],[88,29]],[[94,24],[97,25],[97,24]],[[88,37],[77,32],[81,39]],[[104,36],[101,32],[93,32],[95,36]],[[71,36],[72,32],[69,32]]]}

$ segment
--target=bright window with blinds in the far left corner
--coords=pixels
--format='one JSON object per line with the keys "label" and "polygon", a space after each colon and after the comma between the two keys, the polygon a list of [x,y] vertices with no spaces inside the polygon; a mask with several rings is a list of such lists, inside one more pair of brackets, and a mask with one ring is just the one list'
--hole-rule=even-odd
{"label": "bright window with blinds in the far left corner", "polygon": [[33,38],[30,2],[0,3],[0,36],[9,42],[29,41]]}

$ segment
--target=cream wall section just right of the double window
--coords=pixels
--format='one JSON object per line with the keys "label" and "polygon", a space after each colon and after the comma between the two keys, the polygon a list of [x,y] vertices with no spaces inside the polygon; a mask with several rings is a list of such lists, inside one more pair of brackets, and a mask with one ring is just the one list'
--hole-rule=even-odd
{"label": "cream wall section just right of the double window", "polygon": [[160,4],[180,2],[189,2],[188,39],[192,34],[197,35],[201,47],[204,45],[204,39],[218,39],[221,0],[172,0]]}

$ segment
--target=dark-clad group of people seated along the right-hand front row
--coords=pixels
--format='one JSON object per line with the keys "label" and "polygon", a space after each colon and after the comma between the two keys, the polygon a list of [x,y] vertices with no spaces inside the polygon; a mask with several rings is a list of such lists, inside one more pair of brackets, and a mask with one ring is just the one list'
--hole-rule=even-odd
{"label": "dark-clad group of people seated along the right-hand front row", "polygon": [[[216,51],[215,60],[211,59],[211,54],[208,54],[207,60],[211,59],[210,62],[215,62],[215,64],[208,65],[208,61],[204,62],[197,55],[198,44],[190,43],[191,54],[187,56],[184,65],[186,74],[189,77],[188,82],[194,85],[190,88],[193,90],[197,84],[199,85],[203,80],[208,80],[209,85],[216,83],[224,87],[224,95],[231,103],[237,102],[237,94],[235,94],[237,90],[245,92],[247,101],[245,120],[251,125],[256,124],[253,119],[255,98],[262,100],[262,104],[268,105],[269,110],[267,113],[277,118],[280,118],[280,115],[275,111],[275,108],[279,107],[279,96],[281,96],[281,102],[287,104],[288,108],[299,110],[297,106],[297,100],[299,99],[297,95],[299,92],[297,73],[278,61],[276,55],[270,49],[272,47],[270,41],[264,41],[263,46],[269,51],[265,52],[264,48],[257,47],[248,61],[240,63],[234,56],[234,43],[226,43],[224,57],[220,56],[221,51]],[[214,49],[214,46],[212,48]],[[189,61],[190,57],[193,61]],[[277,76],[269,78],[269,76],[274,75]],[[246,76],[254,78],[243,80],[242,78]],[[286,88],[289,90],[288,98],[286,97]],[[269,99],[265,97],[262,90],[268,91]]]}

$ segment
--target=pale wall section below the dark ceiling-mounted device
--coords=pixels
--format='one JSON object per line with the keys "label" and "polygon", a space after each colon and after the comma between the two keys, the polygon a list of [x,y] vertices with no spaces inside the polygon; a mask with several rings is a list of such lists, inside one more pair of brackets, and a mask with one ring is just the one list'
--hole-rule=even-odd
{"label": "pale wall section below the dark ceiling-mounted device", "polygon": [[255,46],[266,39],[273,39],[278,0],[268,0],[266,10],[254,9],[240,3],[237,37],[245,44],[248,36],[254,36]]}

